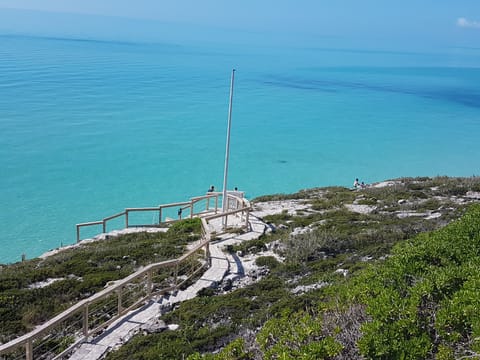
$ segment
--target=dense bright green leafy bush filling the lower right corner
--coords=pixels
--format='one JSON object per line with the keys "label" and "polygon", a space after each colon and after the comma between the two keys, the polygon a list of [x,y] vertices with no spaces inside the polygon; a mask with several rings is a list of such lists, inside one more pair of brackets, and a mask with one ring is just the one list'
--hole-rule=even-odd
{"label": "dense bright green leafy bush filling the lower right corner", "polygon": [[[350,295],[371,321],[368,358],[425,359],[480,350],[480,206],[448,227],[395,247],[355,279]],[[449,356],[450,356],[449,355]]]}

